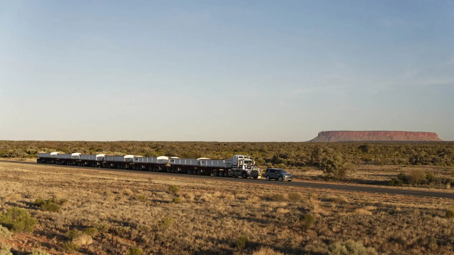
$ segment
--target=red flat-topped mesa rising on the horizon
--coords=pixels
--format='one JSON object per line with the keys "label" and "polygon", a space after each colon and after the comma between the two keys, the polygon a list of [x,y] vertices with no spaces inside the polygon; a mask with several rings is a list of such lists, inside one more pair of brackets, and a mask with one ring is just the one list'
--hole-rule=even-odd
{"label": "red flat-topped mesa rising on the horizon", "polygon": [[349,141],[442,141],[433,132],[410,131],[321,131],[309,142]]}

